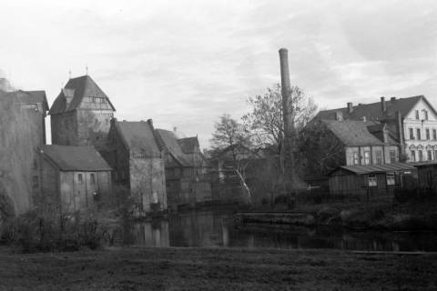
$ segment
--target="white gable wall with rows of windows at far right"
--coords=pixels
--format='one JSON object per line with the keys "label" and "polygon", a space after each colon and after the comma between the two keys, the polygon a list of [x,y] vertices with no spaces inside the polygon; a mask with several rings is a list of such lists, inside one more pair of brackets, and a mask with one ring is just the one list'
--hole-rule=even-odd
{"label": "white gable wall with rows of windows at far right", "polygon": [[[419,119],[416,118],[416,110],[419,111]],[[428,112],[426,119],[424,110]],[[410,135],[410,129],[413,130],[413,136]],[[430,129],[430,139],[427,139],[426,129]],[[433,138],[433,130],[437,134],[437,115],[434,115],[432,108],[427,105],[423,99],[418,102],[412,111],[403,118],[403,130],[405,138],[405,153],[409,162],[419,161],[419,151],[422,150],[423,161],[427,161],[427,147],[432,150],[432,160],[437,159],[437,138]],[[417,130],[421,132],[421,139],[418,139]],[[413,138],[412,138],[413,137]],[[414,151],[414,157],[412,156]]]}

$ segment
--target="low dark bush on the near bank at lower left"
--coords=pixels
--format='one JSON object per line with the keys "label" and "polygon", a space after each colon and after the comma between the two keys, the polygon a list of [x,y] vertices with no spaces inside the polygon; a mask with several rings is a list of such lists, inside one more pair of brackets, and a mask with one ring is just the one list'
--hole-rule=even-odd
{"label": "low dark bush on the near bank at lower left", "polygon": [[92,213],[43,215],[35,210],[9,220],[1,233],[5,244],[23,252],[96,249],[106,237],[107,226]]}

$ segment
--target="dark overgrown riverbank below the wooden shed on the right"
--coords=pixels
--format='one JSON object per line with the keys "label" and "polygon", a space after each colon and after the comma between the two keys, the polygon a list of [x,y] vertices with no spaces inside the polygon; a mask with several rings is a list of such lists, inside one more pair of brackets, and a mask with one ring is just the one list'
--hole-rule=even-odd
{"label": "dark overgrown riverbank below the wooden shed on the right", "polygon": [[[248,223],[298,226],[341,226],[354,230],[437,230],[437,199],[394,203],[389,200],[359,202],[302,203],[291,210],[254,209],[239,213]],[[261,212],[262,211],[262,212]]]}

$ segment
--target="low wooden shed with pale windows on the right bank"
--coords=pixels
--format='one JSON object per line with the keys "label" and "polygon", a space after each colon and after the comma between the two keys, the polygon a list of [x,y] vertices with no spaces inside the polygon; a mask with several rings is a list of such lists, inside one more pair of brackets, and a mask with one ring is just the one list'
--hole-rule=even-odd
{"label": "low wooden shed with pale windows on the right bank", "polygon": [[330,173],[330,195],[384,195],[417,186],[417,169],[407,163],[340,166]]}

